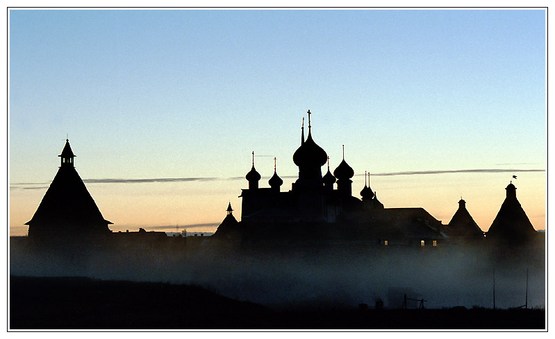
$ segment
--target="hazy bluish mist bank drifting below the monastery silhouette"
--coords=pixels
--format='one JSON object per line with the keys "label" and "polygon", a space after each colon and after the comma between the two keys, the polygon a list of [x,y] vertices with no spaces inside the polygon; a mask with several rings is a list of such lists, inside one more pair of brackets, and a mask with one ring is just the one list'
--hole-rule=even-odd
{"label": "hazy bluish mist bank drifting below the monastery silhouette", "polygon": [[[300,245],[231,247],[206,238],[194,249],[156,245],[31,250],[13,245],[10,275],[192,284],[273,308],[545,307],[545,251],[484,246]],[[408,308],[417,308],[409,302]]]}

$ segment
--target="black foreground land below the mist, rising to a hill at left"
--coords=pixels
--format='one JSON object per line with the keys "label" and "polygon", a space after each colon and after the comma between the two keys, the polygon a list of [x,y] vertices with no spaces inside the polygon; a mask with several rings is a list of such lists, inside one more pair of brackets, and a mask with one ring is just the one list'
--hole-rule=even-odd
{"label": "black foreground land below the mist, rising to a hill at left", "polygon": [[545,329],[545,311],[277,311],[198,286],[12,276],[10,329]]}

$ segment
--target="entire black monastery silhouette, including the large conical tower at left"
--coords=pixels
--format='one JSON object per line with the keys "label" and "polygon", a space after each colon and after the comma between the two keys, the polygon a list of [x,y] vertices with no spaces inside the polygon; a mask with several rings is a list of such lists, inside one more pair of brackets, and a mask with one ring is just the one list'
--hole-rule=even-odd
{"label": "entire black monastery silhouette, including the large conical tower at left", "polygon": [[[301,125],[301,144],[293,154],[299,177],[290,191],[281,191],[283,180],[276,171],[268,180],[270,187],[260,187],[260,173],[254,166],[246,175],[248,189],[242,189],[241,221],[233,216],[231,202],[226,218],[212,237],[199,237],[241,243],[300,241],[304,243],[365,243],[379,245],[416,245],[436,247],[447,243],[481,243],[486,238],[496,244],[520,245],[537,233],[516,198],[516,187],[506,187],[506,199],[488,232],[474,222],[461,198],[458,210],[447,225],[442,225],[422,207],[385,208],[370,188],[370,173],[365,175],[361,199],[352,194],[354,170],[343,159],[331,173],[329,157],[312,136],[308,110],[308,136]],[[61,238],[110,238],[125,241],[160,241],[165,232],[113,233],[74,167],[74,153],[66,140],[60,168],[29,226],[34,240]],[[322,166],[327,171],[322,175]],[[110,235],[111,234],[111,235]]]}

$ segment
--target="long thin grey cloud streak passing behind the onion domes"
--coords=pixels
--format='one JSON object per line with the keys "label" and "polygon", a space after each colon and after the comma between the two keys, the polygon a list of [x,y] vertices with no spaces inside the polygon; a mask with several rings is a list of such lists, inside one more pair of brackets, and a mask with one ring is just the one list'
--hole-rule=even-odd
{"label": "long thin grey cloud streak passing behind the onion domes", "polygon": [[[430,175],[430,174],[448,174],[448,173],[523,173],[523,172],[545,172],[545,169],[499,169],[499,168],[478,168],[478,169],[461,169],[461,170],[439,170],[439,171],[405,171],[405,172],[386,172],[372,173],[374,177],[386,177],[393,175]],[[362,176],[357,174],[356,176]],[[281,175],[284,179],[295,179],[297,175]],[[263,177],[268,179],[270,177]],[[144,183],[167,183],[167,182],[211,182],[211,181],[231,181],[245,180],[245,177],[158,177],[158,178],[141,178],[141,179],[85,179],[85,184],[144,184]],[[10,189],[45,189],[49,182],[17,182],[10,185]],[[36,186],[41,185],[41,186]]]}

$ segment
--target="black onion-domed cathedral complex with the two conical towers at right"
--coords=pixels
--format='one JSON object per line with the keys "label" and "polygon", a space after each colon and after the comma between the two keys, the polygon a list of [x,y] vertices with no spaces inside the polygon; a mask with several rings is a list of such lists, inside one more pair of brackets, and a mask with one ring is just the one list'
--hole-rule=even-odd
{"label": "black onion-domed cathedral complex with the two conical towers at right", "polygon": [[[483,232],[474,221],[461,198],[448,225],[442,225],[425,209],[385,208],[370,188],[370,173],[361,190],[361,199],[352,195],[354,170],[343,159],[333,174],[329,157],[312,136],[308,110],[308,136],[301,126],[301,144],[293,154],[299,177],[290,191],[281,191],[283,180],[276,173],[260,187],[260,173],[254,166],[246,175],[248,189],[242,189],[241,221],[228,212],[215,237],[242,241],[363,241],[381,245],[417,245],[435,247],[440,243],[481,243]],[[322,166],[327,172],[322,176]],[[334,188],[336,184],[336,188]],[[507,241],[529,240],[536,231],[516,200],[513,184],[507,187],[507,200],[502,205],[490,233],[492,238]],[[231,205],[228,207],[228,211]],[[513,223],[514,220],[515,222]],[[510,225],[510,226],[509,226]]]}

